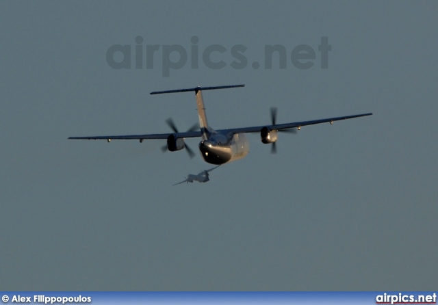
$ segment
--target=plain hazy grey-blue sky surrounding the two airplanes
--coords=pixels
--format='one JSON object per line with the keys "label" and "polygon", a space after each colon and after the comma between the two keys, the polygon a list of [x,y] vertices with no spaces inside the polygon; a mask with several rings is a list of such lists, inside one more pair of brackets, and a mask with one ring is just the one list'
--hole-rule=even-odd
{"label": "plain hazy grey-blue sky surrounding the two airplanes", "polygon": [[[0,287],[3,290],[430,290],[437,265],[437,1],[2,1]],[[159,44],[153,69],[116,70],[113,44]],[[192,36],[227,63],[190,68]],[[318,44],[329,38],[329,68]],[[162,46],[188,62],[163,77]],[[246,68],[230,49],[247,47]],[[287,68],[264,68],[267,44]],[[312,68],[292,49],[316,52]],[[119,53],[120,55],[120,53]],[[172,60],[177,60],[173,57]],[[261,64],[253,69],[253,62]],[[279,135],[209,183],[212,166],[164,140],[69,136],[167,133],[373,112]],[[186,141],[193,149],[198,140]]]}

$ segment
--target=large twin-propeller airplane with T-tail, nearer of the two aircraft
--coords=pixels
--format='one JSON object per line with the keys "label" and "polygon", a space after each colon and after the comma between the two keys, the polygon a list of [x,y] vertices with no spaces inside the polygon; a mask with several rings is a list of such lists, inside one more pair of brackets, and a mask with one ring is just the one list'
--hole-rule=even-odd
{"label": "large twin-propeller airplane with T-tail, nearer of the two aircraft", "polygon": [[207,116],[205,114],[205,107],[203,101],[202,92],[205,90],[217,90],[217,89],[228,89],[228,88],[240,88],[245,85],[222,85],[216,87],[195,87],[188,89],[179,90],[166,90],[166,91],[155,91],[151,94],[166,94],[166,93],[176,93],[176,92],[194,92],[196,96],[196,105],[198,106],[198,117],[199,117],[199,129],[195,131],[194,128],[187,132],[179,132],[172,119],[168,119],[167,123],[172,129],[172,133],[157,133],[157,134],[145,134],[145,135],[99,135],[94,137],[68,137],[68,139],[75,140],[143,140],[150,139],[164,139],[167,140],[167,145],[164,150],[177,151],[185,148],[190,157],[194,157],[194,152],[187,144],[185,144],[184,139],[188,137],[201,137],[201,142],[199,142],[198,149],[201,152],[201,156],[204,161],[214,165],[221,165],[224,163],[229,163],[242,159],[248,155],[249,143],[246,140],[245,133],[260,133],[260,140],[263,144],[272,144],[271,153],[276,153],[276,141],[278,140],[278,133],[282,131],[296,132],[302,127],[313,124],[322,124],[333,122],[338,120],[347,120],[350,118],[359,118],[362,116],[371,116],[372,113],[368,114],[355,114],[352,116],[339,116],[336,118],[323,118],[320,120],[308,120],[302,122],[292,122],[285,124],[276,124],[276,108],[271,108],[271,124],[255,126],[255,127],[240,127],[234,129],[219,129],[215,131],[207,123]]}

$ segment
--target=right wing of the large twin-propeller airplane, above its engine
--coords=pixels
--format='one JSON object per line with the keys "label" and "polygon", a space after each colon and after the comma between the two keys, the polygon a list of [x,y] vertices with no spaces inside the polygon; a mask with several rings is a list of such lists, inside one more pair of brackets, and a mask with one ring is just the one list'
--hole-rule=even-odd
{"label": "right wing of the large twin-propeller airplane, above its engine", "polygon": [[302,122],[292,122],[292,123],[286,123],[286,124],[275,124],[275,125],[263,125],[263,126],[255,126],[255,127],[242,127],[242,128],[235,128],[235,129],[222,129],[218,130],[220,133],[258,133],[261,131],[263,127],[268,127],[271,130],[284,130],[284,129],[291,129],[296,127],[302,127],[307,125],[314,125],[314,124],[322,124],[326,122],[335,122],[339,120],[348,120],[349,118],[360,118],[361,116],[371,116],[372,113],[369,114],[355,114],[353,116],[338,116],[336,118],[323,118],[321,120],[310,120],[310,121],[302,121]]}

